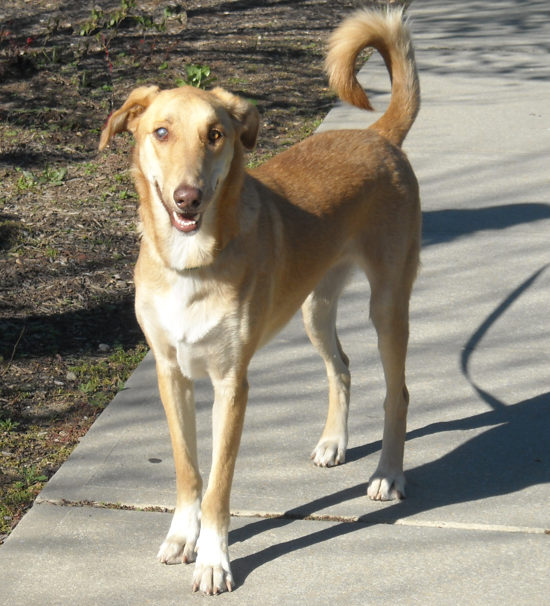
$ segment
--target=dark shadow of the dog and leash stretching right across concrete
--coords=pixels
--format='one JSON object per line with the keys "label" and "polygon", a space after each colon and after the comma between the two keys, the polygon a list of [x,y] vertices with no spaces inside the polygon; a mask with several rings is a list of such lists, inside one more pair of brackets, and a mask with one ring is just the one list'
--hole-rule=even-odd
{"label": "dark shadow of the dog and leash stretching right across concrete", "polygon": [[[467,431],[482,427],[488,427],[488,430],[478,433],[437,461],[407,470],[407,499],[367,513],[361,516],[360,522],[377,524],[381,518],[391,522],[446,505],[511,494],[529,486],[550,482],[550,391],[517,404],[506,405],[475,385],[469,379],[468,371],[469,358],[483,335],[546,267],[545,265],[536,271],[501,302],[474,332],[463,349],[463,373],[492,410],[464,419],[426,425],[407,433],[407,441],[444,431]],[[355,461],[380,448],[381,441],[350,448],[346,460]],[[286,518],[261,519],[236,528],[229,533],[229,544],[246,541],[264,531],[292,524],[293,516],[303,518],[330,505],[360,496],[366,498],[366,487],[366,483],[358,484],[315,499],[288,511]],[[257,553],[238,558],[232,562],[236,584],[243,585],[253,570],[284,554],[329,541],[360,528],[364,528],[364,524],[341,522],[324,525],[321,530],[306,536],[270,545]]]}

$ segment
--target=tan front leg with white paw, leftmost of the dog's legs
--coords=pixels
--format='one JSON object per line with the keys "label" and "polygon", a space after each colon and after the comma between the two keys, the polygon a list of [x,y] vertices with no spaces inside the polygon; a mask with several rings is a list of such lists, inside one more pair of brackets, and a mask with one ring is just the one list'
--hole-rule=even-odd
{"label": "tan front leg with white paw, leftmost of the dog's legs", "polygon": [[155,351],[158,387],[170,429],[176,467],[176,510],[157,558],[163,564],[195,561],[200,531],[203,482],[196,454],[196,422],[193,382],[182,375],[173,357]]}

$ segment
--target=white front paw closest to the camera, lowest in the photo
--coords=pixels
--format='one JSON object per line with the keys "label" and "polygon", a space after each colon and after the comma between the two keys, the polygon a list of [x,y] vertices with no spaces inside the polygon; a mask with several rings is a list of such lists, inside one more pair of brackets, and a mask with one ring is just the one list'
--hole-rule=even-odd
{"label": "white front paw closest to the camera, lowest in the photo", "polygon": [[227,534],[220,536],[215,530],[201,528],[196,550],[193,591],[200,589],[207,596],[232,591],[235,582],[229,566]]}

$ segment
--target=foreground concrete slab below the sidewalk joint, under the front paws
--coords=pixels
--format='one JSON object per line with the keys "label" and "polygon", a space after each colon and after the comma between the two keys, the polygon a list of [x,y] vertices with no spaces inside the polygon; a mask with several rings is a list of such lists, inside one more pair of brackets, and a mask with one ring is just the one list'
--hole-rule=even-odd
{"label": "foreground concrete slab below the sidewalk joint, under the front paws", "polygon": [[[193,566],[155,551],[162,513],[35,505],[0,550],[2,606],[203,603]],[[45,533],[44,529],[48,532]],[[263,604],[541,604],[544,534],[233,518],[237,584],[222,601]]]}

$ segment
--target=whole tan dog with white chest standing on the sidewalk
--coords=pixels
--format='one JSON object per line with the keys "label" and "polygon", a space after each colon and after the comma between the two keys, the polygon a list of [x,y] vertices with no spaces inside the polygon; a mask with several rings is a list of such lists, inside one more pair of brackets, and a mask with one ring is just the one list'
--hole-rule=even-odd
{"label": "whole tan dog with white chest standing on the sidewalk", "polygon": [[[382,452],[367,494],[382,501],[404,496],[404,367],[420,202],[401,143],[420,92],[401,12],[361,10],[336,30],[327,57],[330,84],[344,101],[372,109],[354,70],[366,46],[378,49],[392,78],[387,112],[367,130],[312,136],[254,170],[244,170],[243,153],[257,139],[257,110],[221,88],[137,88],[101,135],[100,150],[115,133],[135,137],[143,233],[136,314],[155,353],[177,485],[158,558],[179,564],[196,557],[193,590],[234,586],[229,494],[247,368],[300,305],[329,378],[328,417],[312,458],[322,467],[344,462],[350,374],[335,321],[355,264],[371,284],[387,387]],[[215,390],[213,456],[201,502],[193,379],[206,375]]]}

